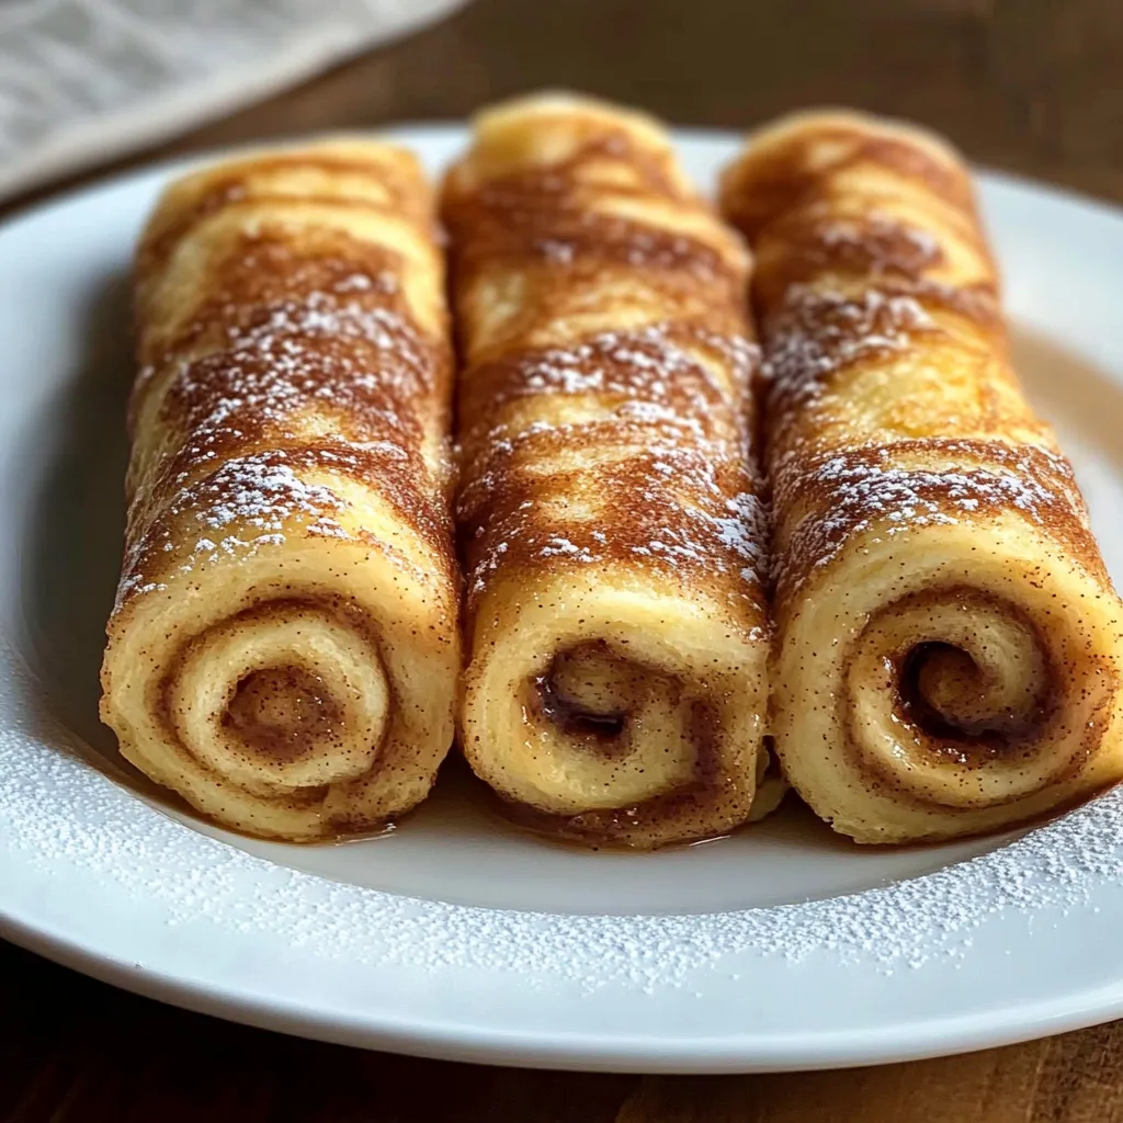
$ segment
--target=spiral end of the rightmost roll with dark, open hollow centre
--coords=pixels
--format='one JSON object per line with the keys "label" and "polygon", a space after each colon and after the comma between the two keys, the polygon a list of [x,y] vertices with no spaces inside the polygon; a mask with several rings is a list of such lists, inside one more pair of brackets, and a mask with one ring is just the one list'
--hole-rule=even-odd
{"label": "spiral end of the rightmost roll with dark, open hollow centre", "polygon": [[1115,783],[1113,594],[1017,514],[887,529],[856,536],[782,629],[775,732],[812,807],[859,842],[921,841]]}

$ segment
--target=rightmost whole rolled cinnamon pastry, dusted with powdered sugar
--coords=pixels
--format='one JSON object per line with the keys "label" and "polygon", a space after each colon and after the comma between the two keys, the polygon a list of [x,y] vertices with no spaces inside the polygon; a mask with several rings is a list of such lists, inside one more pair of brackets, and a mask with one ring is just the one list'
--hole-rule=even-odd
{"label": "rightmost whole rolled cinnamon pastry, dusted with powdered sugar", "polygon": [[784,119],[722,185],[756,257],[782,767],[861,842],[1022,823],[1123,777],[1121,605],[1011,364],[943,141]]}

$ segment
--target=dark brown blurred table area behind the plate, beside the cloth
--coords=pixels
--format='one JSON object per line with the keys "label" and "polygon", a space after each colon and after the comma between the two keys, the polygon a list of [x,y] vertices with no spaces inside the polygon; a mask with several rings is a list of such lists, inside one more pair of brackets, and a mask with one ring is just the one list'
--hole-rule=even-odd
{"label": "dark brown blurred table area behind the plate, beside the cloth", "polygon": [[149,155],[458,118],[551,85],[734,129],[803,104],[891,112],[1123,199],[1123,0],[474,0]]}

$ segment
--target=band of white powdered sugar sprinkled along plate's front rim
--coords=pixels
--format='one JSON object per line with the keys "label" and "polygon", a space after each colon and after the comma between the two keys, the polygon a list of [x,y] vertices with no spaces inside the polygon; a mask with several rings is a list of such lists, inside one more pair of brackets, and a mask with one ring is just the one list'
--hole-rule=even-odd
{"label": "band of white powdered sugar sprinkled along plate's front rim", "polygon": [[[550,979],[582,989],[656,992],[746,953],[798,964],[827,953],[880,973],[962,957],[993,917],[1093,907],[1123,882],[1123,794],[1112,793],[970,861],[861,894],[739,912],[672,916],[549,915],[419,901],[327,882],[203,837],[60,751],[12,712],[0,736],[0,848],[43,873],[74,867],[158,909],[171,925],[225,939],[268,933],[301,956]],[[24,691],[33,690],[26,678]],[[642,860],[642,859],[639,859]]]}

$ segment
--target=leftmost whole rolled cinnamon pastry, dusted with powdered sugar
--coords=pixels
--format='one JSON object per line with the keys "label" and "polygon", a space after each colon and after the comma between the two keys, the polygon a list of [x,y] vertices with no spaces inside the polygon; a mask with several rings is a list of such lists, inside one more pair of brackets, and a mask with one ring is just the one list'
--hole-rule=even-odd
{"label": "leftmost whole rolled cinnamon pastry, dusted with powdered sugar", "polygon": [[375,830],[451,745],[444,277],[419,165],[375,141],[188,175],[144,234],[101,712],[223,825]]}

